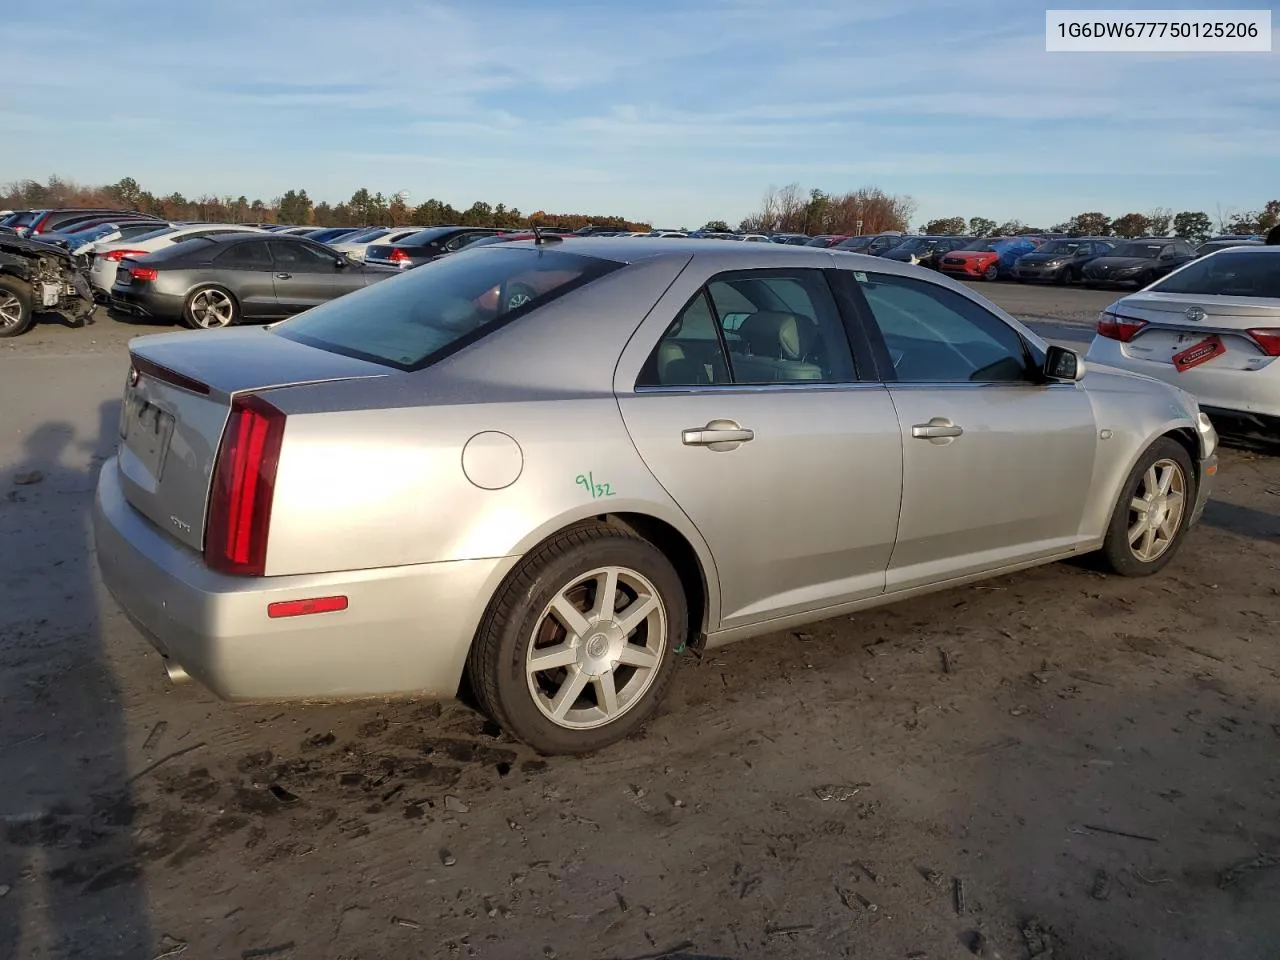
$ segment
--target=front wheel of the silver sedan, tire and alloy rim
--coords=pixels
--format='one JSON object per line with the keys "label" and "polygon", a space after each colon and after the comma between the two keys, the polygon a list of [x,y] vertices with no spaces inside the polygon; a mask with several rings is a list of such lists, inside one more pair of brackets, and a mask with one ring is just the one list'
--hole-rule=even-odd
{"label": "front wheel of the silver sedan, tire and alloy rim", "polygon": [[[1152,479],[1155,477],[1157,481],[1158,489],[1160,481],[1164,481],[1169,470],[1175,471],[1169,474],[1171,477],[1169,489],[1176,493],[1178,488],[1181,488],[1176,507],[1169,499],[1160,502],[1151,489]],[[1155,508],[1160,511],[1156,518],[1164,516],[1166,522],[1158,526],[1153,535],[1147,532],[1149,527],[1144,527],[1134,536],[1133,531],[1138,530],[1138,524],[1142,522],[1143,517],[1151,516],[1151,507],[1147,511],[1139,511],[1135,509],[1135,504],[1139,500],[1147,500],[1151,504],[1153,499],[1156,500]],[[1112,573],[1126,577],[1151,576],[1162,570],[1181,547],[1194,504],[1196,470],[1192,466],[1192,458],[1180,443],[1162,436],[1147,448],[1133,472],[1129,474],[1124,486],[1120,488],[1120,497],[1111,513],[1111,524],[1107,526],[1107,536],[1102,544],[1103,566]],[[1162,507],[1167,509],[1161,509]],[[1176,520],[1167,522],[1175,511]],[[1149,543],[1157,547],[1161,540],[1165,543],[1158,552],[1144,558],[1142,548],[1148,543],[1148,538]]]}

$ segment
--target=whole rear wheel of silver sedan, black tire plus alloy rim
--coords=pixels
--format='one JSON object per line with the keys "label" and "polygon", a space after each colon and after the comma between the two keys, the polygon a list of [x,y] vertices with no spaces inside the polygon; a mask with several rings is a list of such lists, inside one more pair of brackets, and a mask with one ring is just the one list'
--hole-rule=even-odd
{"label": "whole rear wheel of silver sedan, black tire plus alloy rim", "polygon": [[[614,599],[621,594],[627,603],[617,620],[593,620],[608,571],[616,577]],[[623,634],[636,603],[646,604],[636,611],[644,620]],[[566,626],[575,613],[581,617],[576,631]],[[653,717],[687,632],[685,591],[663,553],[625,530],[593,522],[557,534],[508,575],[476,631],[467,675],[480,708],[512,736],[541,754],[584,754],[622,740]],[[543,669],[531,662],[535,652],[549,658]],[[566,687],[575,699],[558,709],[554,698]]]}

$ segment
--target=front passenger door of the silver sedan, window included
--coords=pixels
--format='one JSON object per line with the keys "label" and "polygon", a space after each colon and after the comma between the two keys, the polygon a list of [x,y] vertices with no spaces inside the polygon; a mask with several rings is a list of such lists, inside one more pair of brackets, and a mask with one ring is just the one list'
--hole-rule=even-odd
{"label": "front passenger door of the silver sedan, window included", "polygon": [[902,433],[902,516],[887,589],[1068,553],[1093,476],[1093,407],[1048,383],[1021,334],[914,276],[845,274]]}

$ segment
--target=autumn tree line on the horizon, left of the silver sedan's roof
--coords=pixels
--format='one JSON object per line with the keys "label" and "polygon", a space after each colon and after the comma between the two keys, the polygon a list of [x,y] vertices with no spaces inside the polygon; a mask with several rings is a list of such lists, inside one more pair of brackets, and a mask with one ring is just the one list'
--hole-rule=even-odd
{"label": "autumn tree line on the horizon, left of the silver sedan's roof", "polygon": [[524,214],[506,204],[486,204],[477,200],[460,210],[442,200],[429,198],[411,205],[403,191],[385,196],[361,187],[349,200],[338,204],[314,202],[306,189],[289,189],[270,202],[250,200],[246,196],[214,196],[204,193],[188,200],[182,193],[156,196],[142,189],[136,179],[125,177],[105,187],[84,187],[61,177],[50,177],[46,183],[17,180],[0,188],[0,207],[104,207],[131,210],[166,220],[207,220],[215,223],[287,223],[315,224],[316,227],[435,227],[458,224],[462,227],[562,227],[577,229],[595,224],[618,230],[648,230],[649,224],[635,223],[623,216],[598,216],[591,214],[554,214],[535,210]]}

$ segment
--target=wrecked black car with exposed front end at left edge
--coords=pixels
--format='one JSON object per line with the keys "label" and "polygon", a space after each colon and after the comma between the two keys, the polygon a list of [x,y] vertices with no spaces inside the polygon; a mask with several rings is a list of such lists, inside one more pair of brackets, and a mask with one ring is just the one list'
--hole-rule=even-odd
{"label": "wrecked black car with exposed front end at left edge", "polygon": [[73,326],[91,323],[88,278],[60,247],[0,236],[0,337],[26,333],[37,311],[61,314]]}

